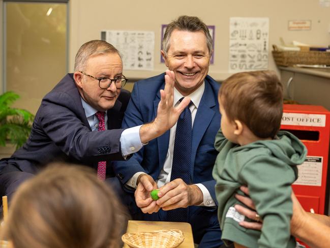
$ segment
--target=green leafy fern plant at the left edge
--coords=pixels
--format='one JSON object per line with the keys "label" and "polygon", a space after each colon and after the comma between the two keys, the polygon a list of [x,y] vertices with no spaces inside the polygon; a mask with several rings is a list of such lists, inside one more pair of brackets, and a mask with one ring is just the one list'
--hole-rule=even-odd
{"label": "green leafy fern plant at the left edge", "polygon": [[34,119],[25,109],[11,107],[18,98],[12,91],[0,95],[0,146],[10,142],[15,150],[25,143]]}

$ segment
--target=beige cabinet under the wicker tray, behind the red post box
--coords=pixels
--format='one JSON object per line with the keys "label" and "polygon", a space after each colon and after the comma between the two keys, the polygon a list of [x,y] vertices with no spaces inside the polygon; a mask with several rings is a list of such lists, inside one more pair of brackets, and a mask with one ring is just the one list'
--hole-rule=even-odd
{"label": "beige cabinet under the wicker tray, behind the red post box", "polygon": [[330,110],[330,69],[280,67],[284,97]]}

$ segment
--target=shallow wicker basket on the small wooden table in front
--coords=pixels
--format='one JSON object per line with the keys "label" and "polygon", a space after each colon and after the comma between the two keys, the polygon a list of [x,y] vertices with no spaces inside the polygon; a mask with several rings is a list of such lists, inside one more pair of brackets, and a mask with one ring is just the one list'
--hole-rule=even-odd
{"label": "shallow wicker basket on the small wooden table in front", "polygon": [[172,248],[181,244],[184,239],[182,231],[176,229],[125,233],[122,236],[123,242],[134,248]]}

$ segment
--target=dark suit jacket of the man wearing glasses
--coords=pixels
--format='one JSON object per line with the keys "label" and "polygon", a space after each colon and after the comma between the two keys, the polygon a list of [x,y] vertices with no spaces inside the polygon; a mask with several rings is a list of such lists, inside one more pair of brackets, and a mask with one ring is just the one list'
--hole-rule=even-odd
{"label": "dark suit jacket of the man wearing glasses", "polygon": [[107,111],[108,129],[114,130],[92,131],[73,74],[67,74],[43,98],[27,142],[10,158],[0,161],[0,174],[13,171],[35,174],[44,164],[56,160],[95,168],[98,161],[123,159],[119,142],[123,129],[119,128],[129,98],[130,93],[122,90]]}

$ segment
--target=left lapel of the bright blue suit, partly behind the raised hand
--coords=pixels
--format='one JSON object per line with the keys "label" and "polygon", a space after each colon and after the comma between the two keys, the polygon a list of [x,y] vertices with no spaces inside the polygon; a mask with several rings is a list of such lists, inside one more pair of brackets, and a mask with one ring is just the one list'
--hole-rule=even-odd
{"label": "left lapel of the bright blue suit, partly behind the raised hand", "polygon": [[[164,89],[165,85],[163,85],[160,89]],[[156,100],[154,101],[154,114],[155,117],[157,116],[157,108],[158,103],[160,102],[160,92],[157,92]],[[168,151],[168,143],[170,139],[170,130],[167,130],[163,135],[157,138],[157,145],[158,145],[158,154],[159,154],[159,168],[160,170],[163,169],[166,154]]]}

